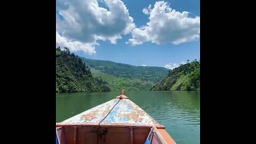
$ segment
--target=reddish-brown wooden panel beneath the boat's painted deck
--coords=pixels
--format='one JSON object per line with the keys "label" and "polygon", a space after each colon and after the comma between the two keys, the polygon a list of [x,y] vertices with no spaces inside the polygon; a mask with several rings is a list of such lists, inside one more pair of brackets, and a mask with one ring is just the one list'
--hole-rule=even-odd
{"label": "reddish-brown wooden panel beneath the boat's painted deck", "polygon": [[[100,126],[98,130],[98,126],[62,125],[61,129],[64,132],[61,138],[65,138],[67,144],[95,144],[97,139],[99,144],[139,144],[145,143],[150,132],[150,127],[135,126]],[[97,130],[99,131],[98,138]],[[61,130],[58,129],[58,131]]]}

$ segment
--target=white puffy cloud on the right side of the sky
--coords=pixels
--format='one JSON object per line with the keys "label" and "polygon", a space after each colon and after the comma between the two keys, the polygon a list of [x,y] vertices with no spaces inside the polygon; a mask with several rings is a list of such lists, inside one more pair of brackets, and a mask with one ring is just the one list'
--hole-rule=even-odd
{"label": "white puffy cloud on the right side of the sky", "polygon": [[148,41],[180,44],[199,39],[200,17],[190,18],[189,12],[175,11],[164,1],[156,2],[153,9],[149,5],[142,12],[149,15],[150,21],[144,27],[133,29],[132,38],[129,39],[132,45]]}

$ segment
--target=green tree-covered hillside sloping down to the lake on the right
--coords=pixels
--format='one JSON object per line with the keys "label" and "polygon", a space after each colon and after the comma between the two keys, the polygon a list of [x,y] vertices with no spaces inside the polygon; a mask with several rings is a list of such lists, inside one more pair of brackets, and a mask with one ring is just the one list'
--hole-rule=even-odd
{"label": "green tree-covered hillside sloping down to the lake on the right", "polygon": [[200,62],[194,60],[174,68],[162,82],[154,85],[151,90],[200,90]]}

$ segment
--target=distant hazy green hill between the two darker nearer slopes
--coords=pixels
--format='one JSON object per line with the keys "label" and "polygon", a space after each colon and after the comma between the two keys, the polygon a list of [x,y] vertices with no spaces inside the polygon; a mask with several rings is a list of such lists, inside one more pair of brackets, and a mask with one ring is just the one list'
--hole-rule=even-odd
{"label": "distant hazy green hill between the two darker nearer slopes", "polygon": [[117,63],[107,60],[92,60],[82,58],[90,67],[93,77],[106,81],[111,91],[122,89],[130,91],[150,90],[160,82],[169,69],[163,67],[142,67]]}

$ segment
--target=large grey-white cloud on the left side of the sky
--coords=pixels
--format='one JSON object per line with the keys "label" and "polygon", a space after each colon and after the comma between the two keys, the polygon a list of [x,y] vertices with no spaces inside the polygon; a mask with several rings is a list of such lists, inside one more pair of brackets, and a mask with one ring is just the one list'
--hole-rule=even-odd
{"label": "large grey-white cloud on the left side of the sky", "polygon": [[135,28],[121,0],[100,1],[107,9],[98,2],[57,0],[56,45],[93,54],[98,39],[116,44],[122,34],[129,34]]}

